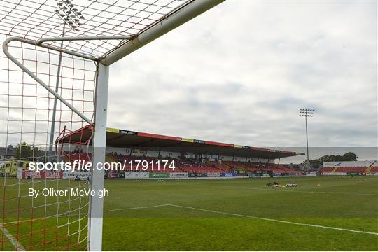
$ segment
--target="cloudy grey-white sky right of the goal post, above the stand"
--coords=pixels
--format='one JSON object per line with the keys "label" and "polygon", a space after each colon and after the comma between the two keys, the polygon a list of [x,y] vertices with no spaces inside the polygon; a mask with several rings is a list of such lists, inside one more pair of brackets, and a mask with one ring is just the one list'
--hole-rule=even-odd
{"label": "cloudy grey-white sky right of the goal post, above the stand", "polygon": [[109,126],[248,146],[377,146],[377,2],[225,1],[111,67]]}

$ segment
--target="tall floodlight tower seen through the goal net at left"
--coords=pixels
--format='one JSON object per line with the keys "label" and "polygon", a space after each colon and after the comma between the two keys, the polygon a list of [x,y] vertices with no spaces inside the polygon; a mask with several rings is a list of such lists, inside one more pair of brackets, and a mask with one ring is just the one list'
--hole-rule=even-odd
{"label": "tall floodlight tower seen through the goal net at left", "polygon": [[[62,37],[68,25],[73,31],[79,31],[78,27],[82,25],[80,20],[85,19],[77,8],[71,3],[72,0],[59,0],[55,14],[63,21]],[[63,41],[60,42],[60,48],[63,48]],[[55,92],[59,90],[60,69],[62,67],[62,51],[59,52],[59,61],[57,65],[57,80],[55,83]],[[57,113],[57,97],[54,97],[54,106],[52,109],[50,143],[48,147],[48,161],[52,160],[52,146],[54,145],[55,117]]]}

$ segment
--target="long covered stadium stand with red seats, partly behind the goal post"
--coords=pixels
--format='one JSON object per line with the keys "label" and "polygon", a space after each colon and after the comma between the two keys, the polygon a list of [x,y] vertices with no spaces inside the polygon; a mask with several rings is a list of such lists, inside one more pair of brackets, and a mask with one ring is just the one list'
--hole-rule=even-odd
{"label": "long covered stadium stand with red seats, partly behind the goal post", "polygon": [[[90,145],[92,131],[93,129],[90,125],[75,131],[62,131],[55,141],[57,150],[66,151],[64,155],[69,162],[78,159],[85,162],[90,161],[91,155],[83,153],[79,145]],[[216,174],[224,176],[249,176],[251,173],[297,174],[298,172],[294,169],[271,162],[290,156],[304,155],[303,153],[290,151],[240,146],[115,128],[108,128],[106,132],[106,146],[109,148],[106,162],[122,163],[123,165],[120,169],[123,169],[125,172],[137,172],[132,170],[128,162],[144,160],[144,169],[142,170],[144,172],[214,173],[211,176],[216,176]],[[75,148],[75,151],[70,151],[73,148]],[[241,158],[245,162],[239,161]],[[238,161],[230,161],[234,159]],[[163,160],[174,161],[175,169],[154,169],[158,162]],[[139,169],[139,172],[141,172],[141,169]]]}

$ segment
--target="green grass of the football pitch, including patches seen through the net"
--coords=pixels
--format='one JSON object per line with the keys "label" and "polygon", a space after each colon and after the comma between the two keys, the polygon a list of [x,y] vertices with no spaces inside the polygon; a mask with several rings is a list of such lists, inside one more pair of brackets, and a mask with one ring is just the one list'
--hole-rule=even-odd
{"label": "green grass of the football pitch, including patches seen through the net", "polygon": [[[265,183],[272,182],[273,179],[106,180],[105,187],[110,193],[104,201],[103,249],[378,250],[378,235],[293,224],[316,224],[378,233],[378,178],[316,177],[274,180],[281,184],[295,181],[299,187],[267,188]],[[60,183],[64,186],[68,182]],[[70,183],[70,186],[75,186],[78,182]],[[317,186],[318,183],[321,186]],[[7,193],[10,192],[11,190]],[[72,203],[71,208],[75,204],[77,202]],[[114,209],[118,210],[113,211]],[[53,211],[56,209],[52,209]],[[14,220],[15,216],[7,221],[12,218]],[[61,218],[60,221],[64,222],[66,218]],[[43,222],[39,225],[43,225]],[[25,227],[20,230],[27,230],[29,225]],[[42,226],[36,227],[37,230],[41,228]],[[77,228],[71,225],[71,230]],[[66,231],[65,228],[59,229],[62,234]],[[9,228],[9,232],[17,234],[17,230],[12,228]],[[55,234],[51,237],[53,239]],[[70,239],[77,240],[77,237]],[[71,241],[67,243],[66,239],[62,239],[62,247],[69,242]],[[30,241],[20,239],[20,243],[28,248]],[[6,248],[14,249],[11,246],[6,242]],[[56,247],[57,244],[47,244],[45,249]],[[71,249],[84,248],[85,244],[81,244]]]}

